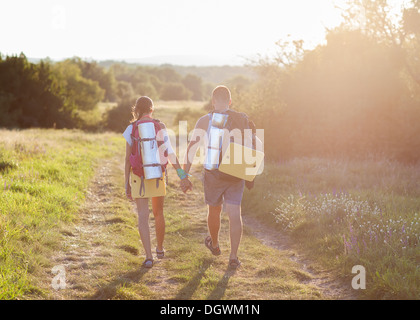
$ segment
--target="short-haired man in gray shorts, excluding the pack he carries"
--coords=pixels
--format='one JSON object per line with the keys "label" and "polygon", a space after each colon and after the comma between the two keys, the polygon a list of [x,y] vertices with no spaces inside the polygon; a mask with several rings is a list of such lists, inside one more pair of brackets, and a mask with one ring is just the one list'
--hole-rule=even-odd
{"label": "short-haired man in gray shorts, excluding the pack he carries", "polygon": [[[218,86],[212,93],[212,104],[214,110],[209,114],[201,117],[195,126],[192,139],[187,148],[186,161],[184,162],[184,170],[188,173],[191,169],[194,156],[200,141],[209,142],[211,137],[211,128],[214,128],[214,121],[212,123],[213,114],[227,115],[227,121],[224,126],[225,132],[232,132],[232,130],[239,129],[242,134],[243,144],[252,147],[252,139],[246,139],[244,130],[249,129],[249,120],[246,114],[236,112],[230,109],[232,104],[231,93],[225,86]],[[212,118],[213,117],[213,118]],[[214,138],[214,137],[213,137]],[[223,145],[229,144],[230,135],[223,136]],[[213,143],[212,143],[213,144]],[[206,146],[207,148],[208,146]],[[222,148],[221,148],[222,149]],[[210,149],[208,149],[210,150]],[[214,151],[214,150],[213,150]],[[221,153],[221,150],[220,150]],[[221,159],[219,153],[218,161]],[[190,156],[191,155],[191,156]],[[205,202],[208,205],[207,226],[210,233],[205,239],[206,247],[213,255],[220,255],[219,247],[219,231],[220,231],[220,215],[222,212],[223,202],[225,203],[225,210],[229,217],[229,233],[231,252],[229,258],[229,266],[237,268],[241,265],[238,259],[238,248],[242,237],[242,217],[241,217],[241,201],[244,191],[245,181],[225,173],[220,172],[217,167],[220,162],[216,163],[210,169],[205,165],[204,173],[204,196]]]}

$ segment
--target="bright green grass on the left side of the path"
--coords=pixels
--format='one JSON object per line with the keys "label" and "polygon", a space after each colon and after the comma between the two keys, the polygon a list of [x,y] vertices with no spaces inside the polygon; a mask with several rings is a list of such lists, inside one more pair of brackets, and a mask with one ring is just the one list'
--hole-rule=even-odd
{"label": "bright green grass on the left side of the path", "polygon": [[76,218],[95,166],[120,149],[111,134],[0,131],[0,298],[36,290],[30,278]]}

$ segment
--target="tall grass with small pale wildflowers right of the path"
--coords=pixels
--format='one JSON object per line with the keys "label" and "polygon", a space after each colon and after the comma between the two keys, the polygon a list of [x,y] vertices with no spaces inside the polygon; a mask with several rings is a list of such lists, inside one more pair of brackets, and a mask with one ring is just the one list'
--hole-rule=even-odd
{"label": "tall grass with small pale wildflowers right of the path", "polygon": [[419,181],[385,160],[295,159],[267,165],[243,207],[345,277],[363,265],[362,297],[419,299]]}

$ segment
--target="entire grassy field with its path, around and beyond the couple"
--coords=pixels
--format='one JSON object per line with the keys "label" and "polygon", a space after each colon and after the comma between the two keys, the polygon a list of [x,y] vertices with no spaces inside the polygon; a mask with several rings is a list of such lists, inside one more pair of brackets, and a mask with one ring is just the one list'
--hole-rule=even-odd
{"label": "entire grassy field with its path, around and beyond the couple", "polygon": [[[202,105],[156,103],[156,117],[176,131],[176,119],[192,110],[193,123]],[[188,195],[170,170],[167,257],[145,271],[135,206],[124,197],[123,157],[116,133],[0,131],[1,299],[419,298],[418,166],[373,159],[266,163],[242,207],[244,218],[263,229],[245,224],[238,272],[227,269],[225,216],[223,255],[203,246],[200,167]],[[285,246],[268,245],[258,233]],[[366,290],[350,288],[354,265],[366,268]],[[56,266],[66,270],[66,290],[52,288]],[[325,275],[342,286],[340,294],[319,286]]]}

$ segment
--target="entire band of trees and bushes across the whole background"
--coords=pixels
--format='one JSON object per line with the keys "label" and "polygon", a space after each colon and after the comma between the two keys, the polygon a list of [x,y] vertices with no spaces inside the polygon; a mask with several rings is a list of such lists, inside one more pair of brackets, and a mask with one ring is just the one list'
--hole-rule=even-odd
{"label": "entire band of trees and bushes across the whole background", "polygon": [[[419,161],[420,0],[399,11],[388,0],[349,0],[343,18],[314,49],[279,40],[275,56],[250,61],[255,78],[249,69],[241,75],[228,67],[79,58],[35,64],[23,54],[0,55],[0,126],[92,129],[84,115],[99,101],[111,101],[117,105],[105,113],[102,128],[121,131],[139,95],[208,101],[213,86],[223,83],[232,90],[233,108],[265,129],[270,159],[379,155]],[[221,79],[221,70],[230,80],[202,78]]]}

